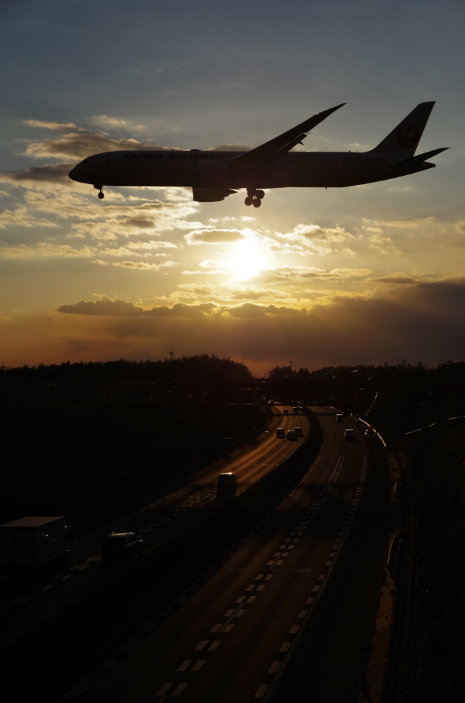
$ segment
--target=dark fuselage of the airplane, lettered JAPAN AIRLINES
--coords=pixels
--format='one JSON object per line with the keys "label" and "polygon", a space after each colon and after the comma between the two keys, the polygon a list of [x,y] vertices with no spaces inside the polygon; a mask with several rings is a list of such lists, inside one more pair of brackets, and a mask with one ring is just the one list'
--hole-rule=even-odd
{"label": "dark fuselage of the airplane, lettered JAPAN AIRLINES", "polygon": [[240,151],[134,150],[96,154],[74,167],[71,177],[98,186],[193,188],[344,188],[385,181],[434,165],[407,169],[370,152],[290,152],[273,165],[240,167]]}

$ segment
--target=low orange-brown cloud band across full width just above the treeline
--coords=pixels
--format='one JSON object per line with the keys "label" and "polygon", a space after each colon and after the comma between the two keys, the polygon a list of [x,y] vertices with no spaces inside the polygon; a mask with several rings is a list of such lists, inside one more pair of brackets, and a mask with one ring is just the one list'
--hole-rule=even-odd
{"label": "low orange-brown cloud band across full width just above the treeline", "polygon": [[172,342],[176,354],[230,356],[262,375],[289,359],[310,370],[402,359],[437,364],[460,361],[465,348],[465,278],[401,285],[365,299],[341,296],[309,310],[211,301],[148,308],[99,298],[63,304],[45,317],[8,311],[0,330],[6,358],[163,359]]}

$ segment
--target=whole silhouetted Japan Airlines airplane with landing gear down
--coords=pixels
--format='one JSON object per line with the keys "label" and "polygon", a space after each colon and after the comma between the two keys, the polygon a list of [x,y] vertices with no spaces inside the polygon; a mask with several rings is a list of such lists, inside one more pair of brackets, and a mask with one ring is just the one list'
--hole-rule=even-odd
{"label": "whole silhouetted Japan Airlines airplane with landing gear down", "polygon": [[449,147],[414,155],[435,101],[420,103],[371,151],[292,151],[308,132],[346,103],[317,112],[249,151],[126,150],[89,156],[70,172],[80,183],[103,186],[187,186],[197,202],[218,202],[247,189],[245,205],[260,207],[269,188],[344,188],[435,167],[427,159]]}

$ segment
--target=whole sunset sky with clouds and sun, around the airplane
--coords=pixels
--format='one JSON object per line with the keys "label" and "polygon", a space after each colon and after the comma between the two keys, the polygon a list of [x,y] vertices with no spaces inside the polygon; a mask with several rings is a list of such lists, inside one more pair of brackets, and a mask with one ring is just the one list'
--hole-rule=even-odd
{"label": "whole sunset sky with clouds and sun, around the airplane", "polygon": [[[255,375],[465,356],[463,0],[2,0],[0,361],[216,354]],[[435,169],[352,188],[71,181],[93,153],[374,148],[436,101]]]}

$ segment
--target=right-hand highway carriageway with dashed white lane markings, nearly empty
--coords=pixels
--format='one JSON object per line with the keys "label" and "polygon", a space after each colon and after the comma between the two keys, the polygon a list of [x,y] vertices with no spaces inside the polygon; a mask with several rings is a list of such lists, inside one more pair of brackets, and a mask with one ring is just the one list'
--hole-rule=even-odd
{"label": "right-hand highway carriageway with dashed white lane markings, nearly empty", "polygon": [[[173,563],[181,595],[143,620],[63,700],[358,699],[384,565],[388,468],[384,447],[367,443],[360,423],[313,411],[322,446],[308,465],[303,460],[292,489],[192,583]],[[355,441],[344,440],[347,427]],[[270,455],[254,459],[232,469],[242,488],[273,464]],[[257,487],[249,493],[260,500]],[[208,549],[190,544],[197,553]]]}

